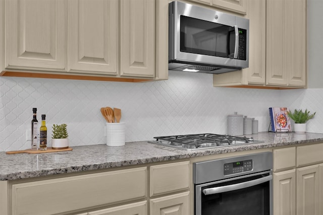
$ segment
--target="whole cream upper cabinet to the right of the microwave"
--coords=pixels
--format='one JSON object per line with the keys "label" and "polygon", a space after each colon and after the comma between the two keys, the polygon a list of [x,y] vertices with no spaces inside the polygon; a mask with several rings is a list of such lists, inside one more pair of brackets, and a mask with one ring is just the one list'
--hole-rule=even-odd
{"label": "whole cream upper cabinet to the right of the microwave", "polygon": [[306,1],[250,0],[249,68],[213,75],[213,86],[306,87]]}

